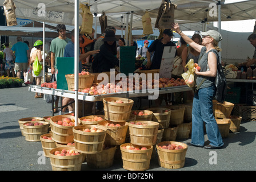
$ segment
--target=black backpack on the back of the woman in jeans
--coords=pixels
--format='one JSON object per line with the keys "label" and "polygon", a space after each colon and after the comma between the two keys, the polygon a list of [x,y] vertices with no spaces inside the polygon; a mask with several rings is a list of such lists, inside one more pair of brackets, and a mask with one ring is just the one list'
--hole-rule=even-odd
{"label": "black backpack on the back of the woman in jeans", "polygon": [[219,55],[217,53],[217,51],[212,51],[215,53],[215,55],[217,56],[217,75],[215,77],[215,86],[217,88],[217,91],[215,93],[215,99],[220,102],[223,103],[225,101],[226,95],[227,95],[227,80],[226,80],[226,76],[223,72],[222,69],[222,65],[221,62],[219,61]]}

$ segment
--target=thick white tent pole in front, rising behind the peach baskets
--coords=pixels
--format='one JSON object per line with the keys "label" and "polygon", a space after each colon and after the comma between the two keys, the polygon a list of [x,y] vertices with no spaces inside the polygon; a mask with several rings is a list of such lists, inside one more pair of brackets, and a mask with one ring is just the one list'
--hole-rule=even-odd
{"label": "thick white tent pole in front, rising behind the peach baskets", "polygon": [[78,125],[79,0],[75,0],[75,126]]}

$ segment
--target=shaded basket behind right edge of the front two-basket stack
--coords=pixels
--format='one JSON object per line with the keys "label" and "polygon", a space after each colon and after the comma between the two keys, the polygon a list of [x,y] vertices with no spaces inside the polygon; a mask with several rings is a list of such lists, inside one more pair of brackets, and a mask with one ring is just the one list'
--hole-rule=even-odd
{"label": "shaded basket behind right edge of the front two-basket stack", "polygon": [[166,129],[170,125],[171,110],[165,107],[150,107],[153,111],[152,121],[159,123],[159,129]]}

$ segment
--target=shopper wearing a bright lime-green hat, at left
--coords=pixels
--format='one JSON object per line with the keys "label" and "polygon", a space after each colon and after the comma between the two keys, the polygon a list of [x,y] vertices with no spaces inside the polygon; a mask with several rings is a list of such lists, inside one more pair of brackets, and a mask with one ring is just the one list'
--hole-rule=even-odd
{"label": "shopper wearing a bright lime-green hat, at left", "polygon": [[[42,46],[43,46],[43,42],[42,40],[37,40],[34,43],[34,47],[35,50],[32,52],[32,57],[31,57],[31,61],[30,61],[30,68],[33,67],[35,58],[38,57],[38,61],[40,64],[43,64],[43,59],[42,59]],[[41,72],[39,73],[38,76],[35,75],[34,70],[32,71],[33,77],[35,77],[36,81],[37,81],[37,85],[41,85],[41,79],[43,76],[43,70],[41,70]],[[39,96],[37,93],[35,93],[35,98],[42,98],[43,94],[41,93]]]}

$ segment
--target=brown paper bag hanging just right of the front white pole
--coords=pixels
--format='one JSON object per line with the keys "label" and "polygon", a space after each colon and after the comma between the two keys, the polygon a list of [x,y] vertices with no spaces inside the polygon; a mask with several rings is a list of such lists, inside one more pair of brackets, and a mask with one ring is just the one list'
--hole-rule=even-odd
{"label": "brown paper bag hanging just right of the front white pole", "polygon": [[82,27],[80,34],[91,34],[93,32],[93,14],[91,14],[90,7],[80,4],[82,9]]}

